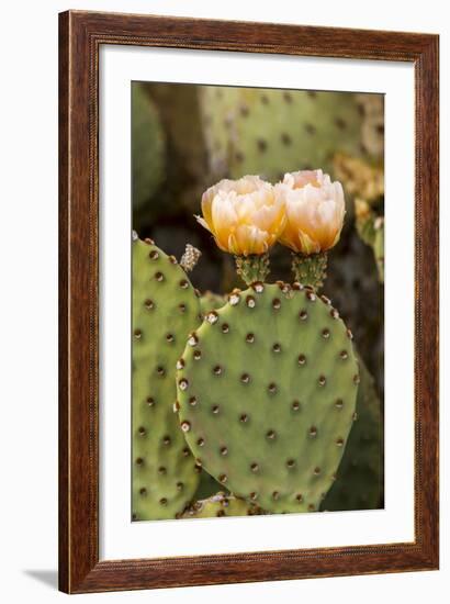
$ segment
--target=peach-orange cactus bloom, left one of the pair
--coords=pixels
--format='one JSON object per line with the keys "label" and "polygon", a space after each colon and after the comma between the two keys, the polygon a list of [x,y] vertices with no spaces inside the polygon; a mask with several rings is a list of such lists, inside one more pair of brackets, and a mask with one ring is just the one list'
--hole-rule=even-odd
{"label": "peach-orange cactus bloom, left one of the pair", "polygon": [[282,199],[258,176],[221,180],[203,193],[202,213],[199,223],[223,251],[236,256],[266,254],[285,225]]}

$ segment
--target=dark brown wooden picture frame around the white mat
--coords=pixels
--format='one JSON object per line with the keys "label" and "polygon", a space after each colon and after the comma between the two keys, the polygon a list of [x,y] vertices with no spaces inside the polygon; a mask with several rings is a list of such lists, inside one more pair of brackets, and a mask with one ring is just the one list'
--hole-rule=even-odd
{"label": "dark brown wooden picture frame around the white mat", "polygon": [[[98,77],[101,44],[414,64],[414,543],[99,560]],[[439,37],[428,34],[78,11],[59,15],[60,590],[81,593],[438,568],[438,51]]]}

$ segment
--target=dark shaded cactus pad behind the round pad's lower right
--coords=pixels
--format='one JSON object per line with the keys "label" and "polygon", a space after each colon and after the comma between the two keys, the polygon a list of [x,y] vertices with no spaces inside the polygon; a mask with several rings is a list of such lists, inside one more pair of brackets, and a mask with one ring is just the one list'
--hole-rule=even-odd
{"label": "dark shaded cactus pad behind the round pad's lower right", "polygon": [[357,421],[351,428],[336,482],[320,508],[376,510],[383,506],[383,426],[372,376],[359,357]]}

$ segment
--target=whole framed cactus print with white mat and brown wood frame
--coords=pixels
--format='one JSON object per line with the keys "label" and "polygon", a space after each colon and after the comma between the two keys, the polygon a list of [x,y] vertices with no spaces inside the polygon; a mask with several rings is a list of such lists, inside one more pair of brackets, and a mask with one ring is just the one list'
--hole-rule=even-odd
{"label": "whole framed cactus print with white mat and brown wood frame", "polygon": [[429,34],[59,15],[59,585],[438,568]]}

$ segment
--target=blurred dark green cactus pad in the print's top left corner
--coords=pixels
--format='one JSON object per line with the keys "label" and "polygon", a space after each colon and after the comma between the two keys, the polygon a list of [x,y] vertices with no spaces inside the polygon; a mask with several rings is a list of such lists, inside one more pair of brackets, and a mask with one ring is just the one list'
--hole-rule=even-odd
{"label": "blurred dark green cactus pad in the print's top left corner", "polygon": [[164,179],[166,138],[151,99],[138,85],[132,94],[133,208],[142,209]]}

